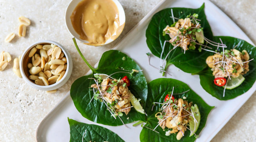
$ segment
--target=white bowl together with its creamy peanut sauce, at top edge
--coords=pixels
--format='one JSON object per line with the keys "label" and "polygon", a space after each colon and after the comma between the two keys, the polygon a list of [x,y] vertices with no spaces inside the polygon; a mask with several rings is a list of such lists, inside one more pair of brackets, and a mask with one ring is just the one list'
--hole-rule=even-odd
{"label": "white bowl together with its creamy peanut sauce, at top edge", "polygon": [[114,41],[125,26],[118,0],[72,0],[65,21],[70,34],[84,44],[102,46]]}

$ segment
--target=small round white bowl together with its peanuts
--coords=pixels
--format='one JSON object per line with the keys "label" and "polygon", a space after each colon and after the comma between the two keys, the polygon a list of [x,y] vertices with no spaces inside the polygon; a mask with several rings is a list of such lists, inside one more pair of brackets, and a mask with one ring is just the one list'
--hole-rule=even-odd
{"label": "small round white bowl together with its peanuts", "polygon": [[70,54],[55,41],[39,41],[30,45],[20,58],[20,73],[30,86],[39,90],[56,90],[72,73]]}

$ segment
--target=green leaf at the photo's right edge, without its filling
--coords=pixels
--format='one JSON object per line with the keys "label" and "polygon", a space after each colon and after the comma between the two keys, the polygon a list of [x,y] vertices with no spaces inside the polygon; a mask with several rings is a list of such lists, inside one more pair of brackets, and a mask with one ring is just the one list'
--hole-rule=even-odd
{"label": "green leaf at the photo's right edge, without its filling", "polygon": [[[250,59],[254,59],[253,61],[249,62],[249,72],[243,75],[245,78],[244,82],[239,85],[239,87],[232,90],[226,89],[224,96],[224,87],[218,87],[214,84],[214,76],[212,75],[212,71],[209,67],[198,73],[200,76],[200,84],[204,90],[219,100],[228,100],[236,98],[237,96],[247,92],[253,86],[253,83],[256,80],[256,48],[244,40],[233,37],[218,36],[214,37],[214,41],[221,42],[220,38],[221,41],[227,45],[227,48],[225,49],[233,49],[235,47],[235,49],[239,50],[240,52],[242,52],[242,50],[246,50],[250,55]],[[220,50],[222,51],[222,48],[220,48]]]}

